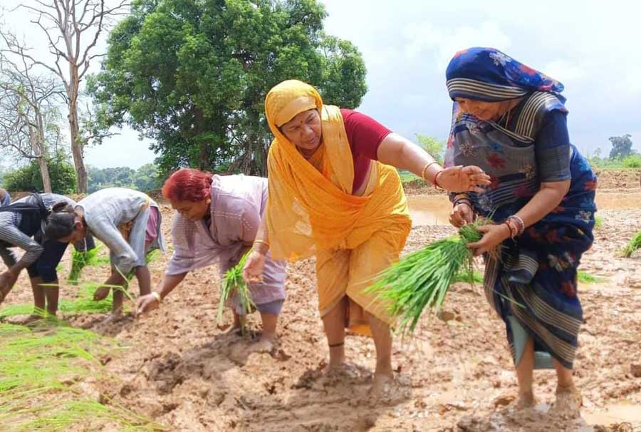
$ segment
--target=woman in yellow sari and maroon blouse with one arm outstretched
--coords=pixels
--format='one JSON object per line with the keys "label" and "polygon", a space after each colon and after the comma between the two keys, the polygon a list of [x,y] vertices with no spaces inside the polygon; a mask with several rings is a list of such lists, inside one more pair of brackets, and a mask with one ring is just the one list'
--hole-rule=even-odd
{"label": "woman in yellow sari and maroon blouse with one arm outstretched", "polygon": [[268,157],[269,197],[244,269],[248,282],[275,259],[316,255],[318,308],[328,339],[329,370],[345,362],[345,327],[371,335],[377,354],[375,392],[392,375],[386,304],[365,289],[398,259],[412,222],[396,168],[450,191],[481,191],[480,168],[443,169],[434,158],[366,115],[323,105],[296,80],[269,91],[265,113],[275,137]]}

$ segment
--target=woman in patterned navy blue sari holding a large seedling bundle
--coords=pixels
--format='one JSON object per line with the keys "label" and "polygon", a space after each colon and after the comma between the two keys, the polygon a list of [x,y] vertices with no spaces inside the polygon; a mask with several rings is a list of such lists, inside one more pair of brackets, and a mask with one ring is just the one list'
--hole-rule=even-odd
{"label": "woman in patterned navy blue sari holding a large seedling bundle", "polygon": [[[554,368],[558,413],[577,415],[572,369],[583,311],[577,267],[593,242],[596,178],[570,144],[563,85],[494,48],[469,48],[447,67],[454,101],[445,165],[478,165],[483,194],[452,195],[452,225],[474,217],[485,254],[484,289],[506,324],[519,386],[535,404],[533,369]],[[488,254],[500,247],[499,254]]]}

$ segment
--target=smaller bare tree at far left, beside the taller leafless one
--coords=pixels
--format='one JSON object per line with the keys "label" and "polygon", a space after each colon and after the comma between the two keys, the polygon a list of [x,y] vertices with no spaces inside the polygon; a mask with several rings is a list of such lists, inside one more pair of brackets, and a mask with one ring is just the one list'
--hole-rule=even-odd
{"label": "smaller bare tree at far left, beside the taller leafless one", "polygon": [[[4,34],[5,41],[15,41]],[[57,147],[61,138],[54,99],[62,89],[50,76],[41,76],[23,50],[16,58],[0,53],[0,146],[19,158],[35,160],[45,192],[51,192],[48,141]],[[54,149],[55,150],[55,149]]]}

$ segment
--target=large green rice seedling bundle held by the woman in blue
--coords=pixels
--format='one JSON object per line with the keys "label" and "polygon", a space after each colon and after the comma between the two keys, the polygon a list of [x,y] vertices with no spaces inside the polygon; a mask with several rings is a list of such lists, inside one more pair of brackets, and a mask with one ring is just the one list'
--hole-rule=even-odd
{"label": "large green rice seedling bundle held by the woman in blue", "polygon": [[389,305],[392,316],[399,319],[401,333],[414,331],[426,307],[438,310],[442,306],[457,276],[474,280],[472,252],[467,244],[481,239],[476,228],[487,223],[487,220],[478,220],[464,225],[457,235],[405,255],[368,288],[368,292],[377,293],[378,298]]}

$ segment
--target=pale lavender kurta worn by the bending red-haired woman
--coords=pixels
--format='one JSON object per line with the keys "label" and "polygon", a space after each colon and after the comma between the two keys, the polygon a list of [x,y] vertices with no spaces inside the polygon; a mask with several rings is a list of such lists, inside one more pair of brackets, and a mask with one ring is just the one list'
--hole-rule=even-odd
{"label": "pale lavender kurta worn by the bending red-haired woman", "polygon": [[[174,254],[167,274],[183,274],[219,263],[221,278],[238,264],[245,244],[256,238],[261,215],[267,204],[267,179],[246,175],[214,175],[209,226],[204,220],[192,222],[177,212],[172,240]],[[266,304],[285,299],[285,263],[269,254],[263,282],[251,284],[251,299]],[[232,307],[237,309],[236,299]]]}

